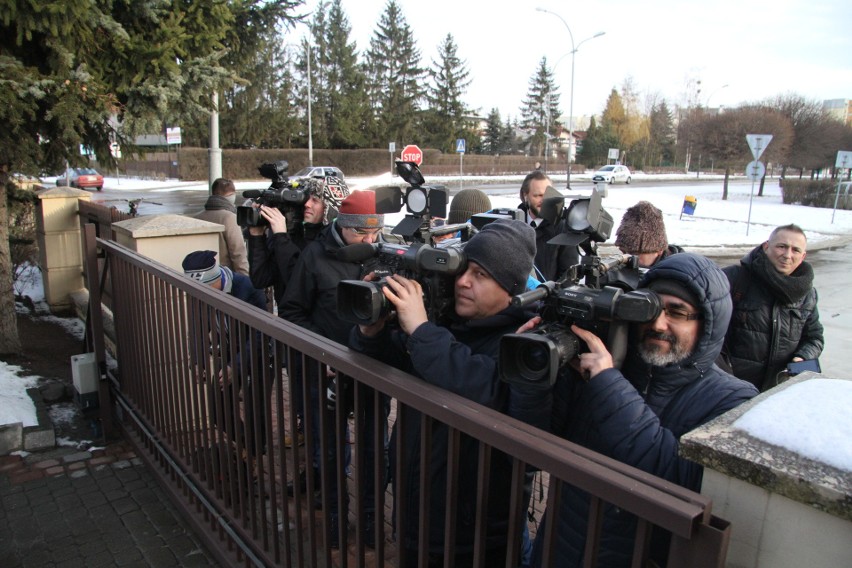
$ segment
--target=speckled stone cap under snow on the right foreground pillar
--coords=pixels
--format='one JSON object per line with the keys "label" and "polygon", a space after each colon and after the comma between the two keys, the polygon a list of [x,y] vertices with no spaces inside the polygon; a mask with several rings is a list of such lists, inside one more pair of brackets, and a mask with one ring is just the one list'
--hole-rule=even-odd
{"label": "speckled stone cap under snow on the right foreground pillar", "polygon": [[733,427],[741,416],[773,394],[812,379],[852,380],[802,373],[681,436],[681,455],[729,477],[852,521],[852,472],[769,444]]}

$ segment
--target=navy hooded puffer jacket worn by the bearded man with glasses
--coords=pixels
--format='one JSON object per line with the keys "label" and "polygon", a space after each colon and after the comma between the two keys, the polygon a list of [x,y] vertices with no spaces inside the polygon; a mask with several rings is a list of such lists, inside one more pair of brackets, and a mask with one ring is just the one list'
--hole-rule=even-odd
{"label": "navy hooded puffer jacket worn by the bearded man with glasses", "polygon": [[[622,371],[607,369],[588,382],[563,377],[553,393],[552,426],[572,442],[697,491],[703,468],[679,457],[681,435],[752,398],[757,389],[714,364],[731,317],[722,271],[704,257],[682,253],[656,264],[640,287],[656,279],[683,283],[701,303],[704,329],[692,355],[679,364],[654,367],[631,349]],[[566,485],[552,551],[555,566],[582,564],[588,511],[588,495]],[[598,566],[628,566],[635,530],[635,516],[606,505]],[[654,533],[652,558],[665,565],[669,535]],[[544,534],[543,528],[538,534]],[[541,546],[537,541],[536,566]]]}

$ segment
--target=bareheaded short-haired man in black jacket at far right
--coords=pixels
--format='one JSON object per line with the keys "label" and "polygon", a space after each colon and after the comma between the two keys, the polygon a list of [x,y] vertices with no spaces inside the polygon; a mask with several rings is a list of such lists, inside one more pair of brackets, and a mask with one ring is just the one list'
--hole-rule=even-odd
{"label": "bareheaded short-haired man in black jacket at far right", "polygon": [[783,225],[724,269],[734,315],[723,357],[761,392],[786,379],[788,363],[816,359],[825,345],[807,244],[800,227]]}

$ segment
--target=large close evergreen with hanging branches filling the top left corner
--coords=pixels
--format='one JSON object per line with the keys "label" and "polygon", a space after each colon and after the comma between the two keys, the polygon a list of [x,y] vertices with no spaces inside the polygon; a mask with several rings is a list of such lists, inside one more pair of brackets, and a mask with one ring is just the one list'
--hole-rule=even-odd
{"label": "large close evergreen with hanging branches filling the top left corner", "polygon": [[[85,163],[81,144],[113,165],[109,144],[206,117],[210,93],[236,79],[224,64],[251,11],[280,22],[294,3],[67,0],[0,6],[0,199],[9,172]],[[246,37],[251,34],[246,30]],[[0,216],[0,353],[19,347],[8,241]]]}

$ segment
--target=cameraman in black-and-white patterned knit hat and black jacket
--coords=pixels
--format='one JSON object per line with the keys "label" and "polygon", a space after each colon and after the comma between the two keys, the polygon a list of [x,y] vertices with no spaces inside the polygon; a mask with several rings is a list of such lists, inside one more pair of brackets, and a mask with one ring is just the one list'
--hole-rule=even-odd
{"label": "cameraman in black-and-white patterned knit hat and black jacket", "polygon": [[252,284],[260,289],[272,286],[279,309],[299,254],[319,236],[322,228],[328,224],[328,218],[336,214],[341,197],[349,195],[342,180],[339,181],[339,192],[332,192],[325,180],[316,178],[300,180],[299,186],[304,187],[309,195],[301,220],[295,219],[292,226],[288,227],[287,219],[280,209],[260,205],[260,215],[269,224],[268,228],[248,228],[249,276]]}

